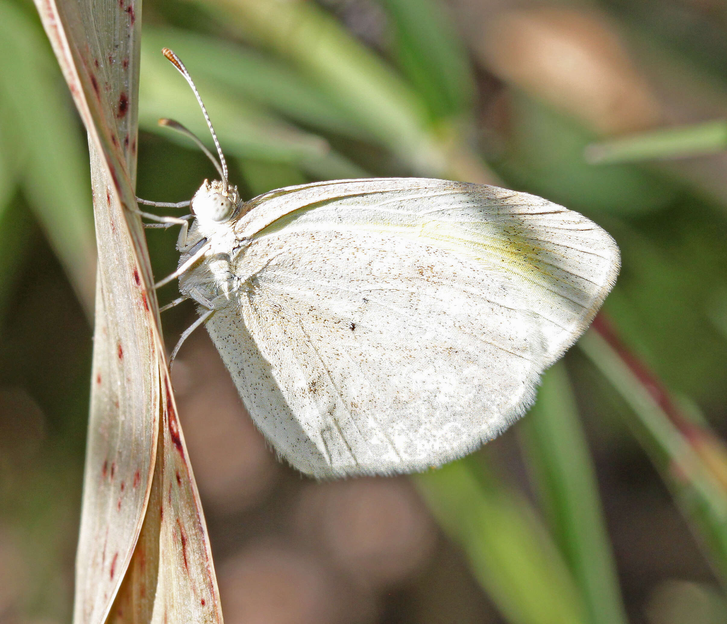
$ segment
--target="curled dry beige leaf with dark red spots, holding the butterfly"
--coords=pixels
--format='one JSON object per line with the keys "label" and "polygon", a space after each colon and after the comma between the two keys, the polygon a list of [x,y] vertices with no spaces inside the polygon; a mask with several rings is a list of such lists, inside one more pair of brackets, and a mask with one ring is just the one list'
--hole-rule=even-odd
{"label": "curled dry beige leaf with dark red spots, holding the butterfly", "polygon": [[89,133],[99,256],[74,622],[222,621],[145,238],[131,212],[141,5],[36,6]]}

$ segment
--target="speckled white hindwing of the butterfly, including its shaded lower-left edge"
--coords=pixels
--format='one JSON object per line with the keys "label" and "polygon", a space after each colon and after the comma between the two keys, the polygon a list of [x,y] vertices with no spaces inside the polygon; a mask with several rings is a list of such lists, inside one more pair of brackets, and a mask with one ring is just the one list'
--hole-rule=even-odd
{"label": "speckled white hindwing of the butterfly, including its shaded lower-left edge", "polygon": [[472,262],[409,240],[293,232],[256,241],[241,264],[269,257],[238,309],[207,327],[252,417],[297,468],[424,469],[531,402],[542,340],[508,285],[483,285]]}

